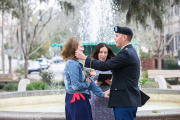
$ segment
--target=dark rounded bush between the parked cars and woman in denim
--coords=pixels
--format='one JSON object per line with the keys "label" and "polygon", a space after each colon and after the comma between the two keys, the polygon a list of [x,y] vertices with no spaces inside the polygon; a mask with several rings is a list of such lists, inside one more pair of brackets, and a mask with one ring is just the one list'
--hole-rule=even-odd
{"label": "dark rounded bush between the parked cars and woman in denim", "polygon": [[40,71],[39,75],[42,78],[42,81],[44,82],[51,82],[51,80],[54,78],[54,74],[52,71]]}

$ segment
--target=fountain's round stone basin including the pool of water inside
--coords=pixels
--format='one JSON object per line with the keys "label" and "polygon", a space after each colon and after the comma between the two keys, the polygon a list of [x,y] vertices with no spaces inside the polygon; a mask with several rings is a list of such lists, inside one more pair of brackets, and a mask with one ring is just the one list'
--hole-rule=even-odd
{"label": "fountain's round stone basin including the pool of water inside", "polygon": [[[142,91],[151,98],[138,108],[136,120],[180,118],[180,90],[149,88]],[[59,94],[52,94],[56,92]],[[65,120],[64,99],[63,89],[1,93],[0,119]]]}

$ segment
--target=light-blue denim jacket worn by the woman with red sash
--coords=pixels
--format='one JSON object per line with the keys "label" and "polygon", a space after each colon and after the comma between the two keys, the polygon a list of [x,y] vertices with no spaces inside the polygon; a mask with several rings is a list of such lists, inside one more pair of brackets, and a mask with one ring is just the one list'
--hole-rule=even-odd
{"label": "light-blue denim jacket worn by the woman with red sash", "polygon": [[104,97],[105,95],[92,78],[90,78],[91,84],[89,85],[78,60],[75,61],[70,59],[66,62],[63,79],[65,83],[65,90],[69,94],[85,93],[90,95],[89,90],[91,90],[99,97]]}

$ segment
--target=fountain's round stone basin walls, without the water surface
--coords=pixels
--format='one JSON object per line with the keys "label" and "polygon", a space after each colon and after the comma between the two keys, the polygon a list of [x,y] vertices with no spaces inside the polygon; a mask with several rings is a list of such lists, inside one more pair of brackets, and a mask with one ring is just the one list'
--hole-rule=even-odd
{"label": "fountain's round stone basin walls, without the water surface", "polygon": [[[153,109],[158,113],[152,113],[152,110],[138,110],[136,120],[179,120],[180,119],[180,90],[171,89],[142,89],[147,93],[152,102],[172,103],[177,106],[174,109]],[[64,110],[60,111],[2,111],[2,108],[18,106],[28,106],[36,104],[65,104],[65,91],[64,90],[40,90],[40,91],[27,91],[27,92],[11,92],[0,94],[0,119],[6,120],[65,120]],[[147,103],[147,104],[149,104]],[[165,103],[165,104],[166,104]],[[143,106],[144,107],[144,106]],[[142,108],[143,108],[142,107]],[[10,109],[12,110],[12,109]]]}

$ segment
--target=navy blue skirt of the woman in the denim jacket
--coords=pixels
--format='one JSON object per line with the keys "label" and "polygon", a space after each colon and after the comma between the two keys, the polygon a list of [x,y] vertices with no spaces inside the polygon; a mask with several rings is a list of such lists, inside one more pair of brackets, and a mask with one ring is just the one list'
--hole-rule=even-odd
{"label": "navy blue skirt of the woman in the denim jacket", "polygon": [[93,120],[89,96],[87,94],[83,96],[85,101],[80,97],[80,100],[76,99],[74,103],[70,103],[73,94],[66,93],[66,120]]}

